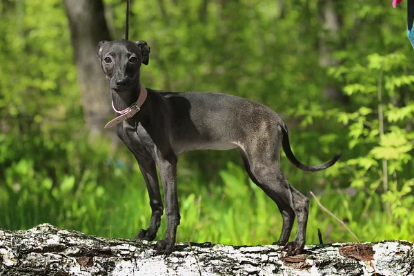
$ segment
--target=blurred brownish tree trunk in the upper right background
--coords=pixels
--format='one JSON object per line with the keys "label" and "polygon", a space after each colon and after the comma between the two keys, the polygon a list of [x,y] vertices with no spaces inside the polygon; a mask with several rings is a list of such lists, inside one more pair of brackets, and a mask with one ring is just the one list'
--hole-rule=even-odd
{"label": "blurred brownish tree trunk in the upper right background", "polygon": [[[319,23],[322,30],[319,32],[319,64],[322,68],[338,66],[339,62],[333,57],[333,52],[339,45],[339,30],[342,28],[342,20],[337,10],[338,6],[335,0],[319,0]],[[335,85],[335,81],[327,80],[326,86],[322,93],[328,99],[342,101],[346,103],[347,97]]]}

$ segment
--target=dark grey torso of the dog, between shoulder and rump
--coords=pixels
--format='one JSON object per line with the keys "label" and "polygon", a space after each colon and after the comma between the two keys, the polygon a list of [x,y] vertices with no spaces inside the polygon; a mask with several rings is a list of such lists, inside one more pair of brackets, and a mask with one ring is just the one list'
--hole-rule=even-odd
{"label": "dark grey torso of the dog, between shoulder and rump", "polygon": [[282,118],[260,103],[215,92],[155,92],[166,99],[170,108],[170,139],[176,154],[230,150],[246,142],[257,144],[259,139],[279,142],[267,133],[277,132],[275,128],[284,124]]}

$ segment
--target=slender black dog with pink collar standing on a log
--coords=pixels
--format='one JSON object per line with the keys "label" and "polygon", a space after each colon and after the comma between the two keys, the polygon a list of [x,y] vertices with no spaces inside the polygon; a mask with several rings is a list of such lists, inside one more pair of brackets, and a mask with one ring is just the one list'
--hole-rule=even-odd
{"label": "slender black dog with pink collar standing on a log", "polygon": [[[302,170],[323,170],[340,155],[319,166],[301,164],[290,150],[282,118],[262,104],[211,92],[166,92],[146,89],[139,79],[141,63],[148,64],[145,41],[101,41],[97,55],[109,81],[113,108],[121,114],[106,127],[117,125],[117,135],[138,161],[146,181],[152,210],[148,229],[137,238],[153,240],[163,213],[156,164],[164,188],[167,230],[156,244],[157,253],[171,253],[180,215],[177,199],[177,155],[190,150],[237,148],[250,178],[264,190],[283,217],[276,244],[289,254],[305,245],[309,199],[290,186],[280,170],[282,144],[288,159]],[[288,238],[297,216],[297,233]]]}

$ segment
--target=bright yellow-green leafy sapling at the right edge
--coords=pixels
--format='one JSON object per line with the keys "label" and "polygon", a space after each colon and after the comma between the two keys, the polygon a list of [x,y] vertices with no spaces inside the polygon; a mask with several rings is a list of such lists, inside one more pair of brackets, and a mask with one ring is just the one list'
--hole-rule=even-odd
{"label": "bright yellow-green leafy sapling at the right edge", "polygon": [[[404,230],[413,223],[414,195],[410,169],[413,168],[411,127],[414,101],[406,94],[414,75],[404,74],[408,67],[401,52],[372,54],[364,66],[339,66],[331,74],[346,79],[344,92],[356,105],[353,112],[337,112],[337,121],[348,127],[348,148],[359,152],[342,164],[342,175],[352,179],[351,186],[366,193],[382,194],[383,208],[388,209],[391,224],[404,221]],[[413,234],[406,231],[410,239]]]}

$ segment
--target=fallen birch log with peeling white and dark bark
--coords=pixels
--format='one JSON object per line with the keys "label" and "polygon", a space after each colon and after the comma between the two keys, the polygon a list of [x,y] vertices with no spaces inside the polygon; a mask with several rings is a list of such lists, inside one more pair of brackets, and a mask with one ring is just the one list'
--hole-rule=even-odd
{"label": "fallen birch log with peeling white and dark bark", "polygon": [[0,275],[412,275],[413,244],[382,241],[306,246],[177,244],[157,256],[153,242],[107,239],[41,224],[0,230]]}

